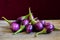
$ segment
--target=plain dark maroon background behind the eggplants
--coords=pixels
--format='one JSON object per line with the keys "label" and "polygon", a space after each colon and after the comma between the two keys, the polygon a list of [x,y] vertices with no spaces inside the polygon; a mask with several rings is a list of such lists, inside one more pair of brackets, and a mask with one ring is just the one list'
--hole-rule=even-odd
{"label": "plain dark maroon background behind the eggplants", "polygon": [[60,19],[58,0],[0,0],[0,19],[17,19],[28,14],[29,7],[39,19]]}

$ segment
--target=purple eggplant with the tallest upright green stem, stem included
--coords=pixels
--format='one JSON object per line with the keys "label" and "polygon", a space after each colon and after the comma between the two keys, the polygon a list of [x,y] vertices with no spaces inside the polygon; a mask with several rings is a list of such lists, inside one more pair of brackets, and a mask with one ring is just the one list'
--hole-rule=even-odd
{"label": "purple eggplant with the tallest upright green stem, stem included", "polygon": [[32,23],[32,25],[35,26],[36,30],[37,30],[37,31],[43,30],[44,27],[43,27],[42,23],[41,23],[41,22],[37,22],[37,21],[33,18],[33,15],[32,15],[32,13],[31,13],[30,8],[29,8],[29,16],[30,16],[31,23]]}

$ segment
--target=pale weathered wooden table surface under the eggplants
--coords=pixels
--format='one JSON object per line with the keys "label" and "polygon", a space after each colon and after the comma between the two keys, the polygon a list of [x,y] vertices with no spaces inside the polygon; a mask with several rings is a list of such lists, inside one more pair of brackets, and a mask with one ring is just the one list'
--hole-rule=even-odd
{"label": "pale weathered wooden table surface under the eggplants", "polygon": [[[51,22],[55,27],[60,28],[60,20],[45,20]],[[13,35],[9,29],[9,24],[0,20],[0,40],[60,40],[60,31],[53,31],[51,34],[41,34],[34,37],[35,33],[26,34],[25,32]]]}

